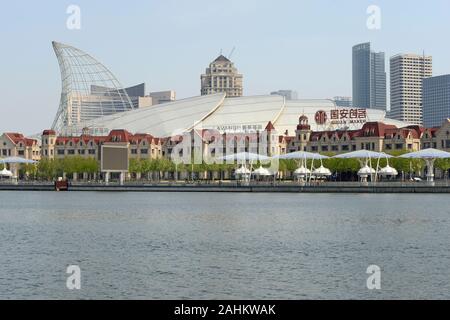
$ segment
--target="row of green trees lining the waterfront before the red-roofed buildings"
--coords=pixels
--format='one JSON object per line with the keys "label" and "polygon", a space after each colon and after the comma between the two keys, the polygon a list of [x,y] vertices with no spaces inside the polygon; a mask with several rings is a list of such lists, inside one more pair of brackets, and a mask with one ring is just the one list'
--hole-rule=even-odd
{"label": "row of green trees lining the waterfront before the red-roofed buildings", "polygon": [[[393,154],[394,156],[400,153]],[[333,154],[328,154],[332,156]],[[376,167],[377,159],[372,159],[372,167]],[[404,173],[419,173],[425,167],[425,163],[420,159],[402,159],[392,158],[389,160],[380,159],[380,166],[389,165]],[[254,167],[259,166],[255,163]],[[357,159],[337,159],[330,158],[323,160],[323,165],[334,173],[356,173],[361,163]],[[286,176],[288,172],[293,172],[299,166],[297,160],[280,160],[279,171]],[[307,161],[307,166],[311,166],[311,161]],[[320,166],[320,161],[314,161],[314,167]],[[436,160],[435,167],[442,172],[450,169],[450,159]],[[130,159],[129,172],[134,175],[149,175],[150,173],[157,173],[158,178],[164,172],[188,172],[192,173],[207,173],[207,172],[228,172],[231,173],[236,165],[233,164],[175,164],[169,159]],[[72,176],[74,173],[85,173],[90,178],[99,173],[99,163],[95,158],[83,157],[66,157],[64,159],[42,159],[37,165],[23,165],[20,168],[19,174],[27,176],[31,179],[53,180],[57,177],[66,174]]]}

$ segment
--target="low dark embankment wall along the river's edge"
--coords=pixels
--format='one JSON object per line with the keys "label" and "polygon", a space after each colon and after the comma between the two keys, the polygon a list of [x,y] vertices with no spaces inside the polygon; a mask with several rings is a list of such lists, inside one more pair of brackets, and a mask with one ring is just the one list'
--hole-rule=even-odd
{"label": "low dark embankment wall along the river's edge", "polygon": [[[0,191],[54,191],[48,185],[0,185]],[[95,192],[278,192],[278,193],[450,193],[450,186],[219,186],[219,185],[70,185],[69,191]]]}

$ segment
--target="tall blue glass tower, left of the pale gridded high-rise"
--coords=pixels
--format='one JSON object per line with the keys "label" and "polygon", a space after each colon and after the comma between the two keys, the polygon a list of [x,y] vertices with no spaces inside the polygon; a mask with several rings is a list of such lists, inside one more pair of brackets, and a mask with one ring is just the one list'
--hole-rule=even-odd
{"label": "tall blue glass tower, left of the pale gridded high-rise", "polygon": [[370,42],[353,47],[353,106],[386,110],[384,52],[373,52]]}

